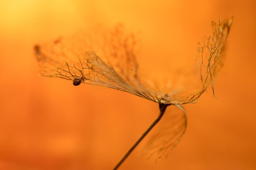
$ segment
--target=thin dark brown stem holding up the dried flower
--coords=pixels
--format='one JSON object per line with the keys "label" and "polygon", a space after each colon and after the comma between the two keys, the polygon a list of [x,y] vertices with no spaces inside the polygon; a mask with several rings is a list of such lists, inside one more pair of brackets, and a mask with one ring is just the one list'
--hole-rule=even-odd
{"label": "thin dark brown stem holding up the dried flower", "polygon": [[134,145],[132,145],[132,147],[130,148],[130,150],[128,152],[126,152],[125,156],[122,157],[122,159],[119,161],[119,163],[116,164],[114,170],[118,169],[121,164],[126,160],[127,157],[129,157],[129,155],[131,154],[132,151],[134,151],[134,149],[137,147],[137,145],[139,145],[139,143],[144,139],[144,137],[147,135],[147,133],[149,133],[152,128],[162,119],[162,117],[164,116],[166,107],[169,106],[165,105],[165,104],[159,104],[159,110],[160,113],[158,115],[158,117],[156,118],[156,120],[150,125],[149,128],[147,128],[147,130],[140,136],[139,140],[137,140]]}

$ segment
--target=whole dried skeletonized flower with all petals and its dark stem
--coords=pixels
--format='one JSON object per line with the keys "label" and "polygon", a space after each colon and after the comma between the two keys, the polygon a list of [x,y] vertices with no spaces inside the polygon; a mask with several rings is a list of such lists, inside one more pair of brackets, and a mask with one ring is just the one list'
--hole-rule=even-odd
{"label": "whole dried skeletonized flower with all petals and its dark stem", "polygon": [[[183,85],[183,88],[165,92],[152,87],[149,81],[140,76],[135,55],[136,38],[133,34],[125,34],[120,25],[114,30],[102,29],[98,37],[100,40],[95,38],[93,41],[93,38],[88,38],[90,36],[86,34],[68,40],[58,39],[47,45],[36,45],[34,49],[43,76],[72,80],[75,86],[81,83],[106,86],[159,104],[159,116],[117,163],[114,168],[117,169],[161,120],[166,107],[170,105],[178,107],[183,114],[175,117],[172,123],[166,125],[166,128],[155,136],[146,152],[150,156],[166,157],[178,144],[185,133],[187,123],[182,105],[194,103],[209,85],[214,94],[213,79],[223,65],[225,43],[232,22],[233,18],[219,23],[212,22],[213,35],[205,37],[203,42],[199,43],[195,58],[198,86]],[[77,44],[82,44],[83,47],[77,47]],[[84,47],[90,50],[85,50]],[[109,60],[104,60],[100,56],[106,56]]]}

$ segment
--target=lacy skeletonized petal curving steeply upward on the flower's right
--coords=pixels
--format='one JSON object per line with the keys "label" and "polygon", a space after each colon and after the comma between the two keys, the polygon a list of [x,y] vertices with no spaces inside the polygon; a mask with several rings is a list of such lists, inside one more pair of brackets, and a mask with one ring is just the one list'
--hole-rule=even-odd
{"label": "lacy skeletonized petal curving steeply upward on the flower's right", "polygon": [[184,83],[183,88],[169,92],[170,99],[166,100],[172,101],[173,104],[195,102],[209,85],[211,85],[214,95],[213,80],[224,63],[225,46],[232,23],[233,18],[218,24],[211,23],[213,35],[205,37],[203,42],[198,44],[198,52],[195,56],[197,77],[191,76],[190,83],[187,85]]}

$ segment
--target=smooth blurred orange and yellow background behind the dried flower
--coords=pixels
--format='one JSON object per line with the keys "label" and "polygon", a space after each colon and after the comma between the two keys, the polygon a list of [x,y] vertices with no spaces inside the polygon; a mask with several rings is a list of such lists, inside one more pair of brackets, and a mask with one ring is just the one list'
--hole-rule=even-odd
{"label": "smooth blurred orange and yellow background behind the dried flower", "polygon": [[120,169],[256,169],[254,1],[48,2],[0,2],[0,169],[112,169],[158,114],[134,95],[38,76],[33,45],[121,22],[139,32],[141,60],[165,70],[230,16],[218,100],[209,90],[185,106],[188,129],[167,159],[147,160],[141,143]]}

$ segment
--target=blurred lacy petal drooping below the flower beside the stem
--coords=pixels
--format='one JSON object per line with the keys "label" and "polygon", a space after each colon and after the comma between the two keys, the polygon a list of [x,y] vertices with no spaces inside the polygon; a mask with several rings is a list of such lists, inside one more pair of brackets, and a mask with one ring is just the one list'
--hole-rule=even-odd
{"label": "blurred lacy petal drooping below the flower beside the stem", "polygon": [[147,157],[167,157],[169,152],[178,145],[186,131],[186,112],[181,105],[169,106],[166,113],[156,125],[154,134],[146,146]]}

